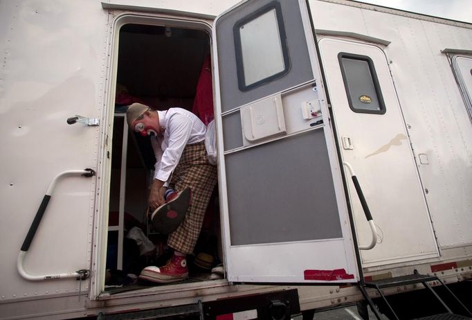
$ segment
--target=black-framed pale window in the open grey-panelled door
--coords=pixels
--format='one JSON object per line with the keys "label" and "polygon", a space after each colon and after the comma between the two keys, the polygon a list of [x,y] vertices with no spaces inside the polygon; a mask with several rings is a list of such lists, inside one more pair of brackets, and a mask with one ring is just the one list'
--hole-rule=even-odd
{"label": "black-framed pale window in the open grey-panelled door", "polygon": [[273,1],[233,28],[238,85],[248,91],[289,71],[280,3]]}

